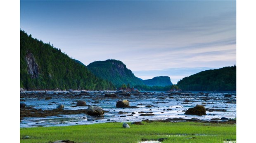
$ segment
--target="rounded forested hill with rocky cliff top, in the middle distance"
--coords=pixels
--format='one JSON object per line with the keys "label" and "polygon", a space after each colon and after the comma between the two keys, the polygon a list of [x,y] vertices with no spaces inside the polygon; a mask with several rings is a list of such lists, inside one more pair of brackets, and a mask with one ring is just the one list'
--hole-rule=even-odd
{"label": "rounded forested hill with rocky cliff top, in the middle distance", "polygon": [[96,61],[90,63],[87,67],[93,74],[111,81],[116,87],[122,84],[143,85],[140,78],[134,76],[133,72],[127,69],[126,65],[119,60]]}

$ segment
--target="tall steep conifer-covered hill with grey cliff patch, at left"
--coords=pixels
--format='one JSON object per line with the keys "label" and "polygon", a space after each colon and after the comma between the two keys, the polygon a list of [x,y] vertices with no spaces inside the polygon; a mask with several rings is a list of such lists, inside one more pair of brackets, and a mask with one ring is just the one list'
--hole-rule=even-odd
{"label": "tall steep conifer-covered hill with grey cliff patch, at left", "polygon": [[20,31],[20,87],[26,90],[113,90],[115,86],[92,74],[58,48]]}

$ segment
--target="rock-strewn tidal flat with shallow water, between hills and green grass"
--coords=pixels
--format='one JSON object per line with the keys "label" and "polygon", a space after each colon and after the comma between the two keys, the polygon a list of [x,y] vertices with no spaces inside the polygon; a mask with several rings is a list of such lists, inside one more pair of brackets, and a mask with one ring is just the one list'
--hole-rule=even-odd
{"label": "rock-strewn tidal flat with shallow water, between hills and green grass", "polygon": [[[116,91],[28,91],[21,92],[20,127],[51,127],[70,125],[90,125],[106,122],[137,122],[142,120],[173,120],[183,122],[196,118],[200,121],[236,118],[235,92],[140,92],[139,94],[106,97],[106,93]],[[117,108],[116,101],[126,99],[130,107]],[[85,101],[85,106],[76,106]],[[60,104],[63,109],[56,109]],[[186,115],[185,111],[197,104],[206,108],[206,115]],[[102,117],[86,113],[88,106],[99,106],[105,112]],[[147,116],[143,116],[147,114]],[[185,119],[185,120],[179,120]],[[171,121],[171,120],[170,120]]]}

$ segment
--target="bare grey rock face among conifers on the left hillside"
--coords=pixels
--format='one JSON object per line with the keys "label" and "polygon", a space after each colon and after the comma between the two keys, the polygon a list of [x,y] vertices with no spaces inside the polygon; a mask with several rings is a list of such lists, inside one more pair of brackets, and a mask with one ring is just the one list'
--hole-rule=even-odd
{"label": "bare grey rock face among conifers on the left hillside", "polygon": [[28,67],[28,74],[30,74],[31,78],[38,78],[39,67],[32,53],[28,53],[26,55],[26,64]]}

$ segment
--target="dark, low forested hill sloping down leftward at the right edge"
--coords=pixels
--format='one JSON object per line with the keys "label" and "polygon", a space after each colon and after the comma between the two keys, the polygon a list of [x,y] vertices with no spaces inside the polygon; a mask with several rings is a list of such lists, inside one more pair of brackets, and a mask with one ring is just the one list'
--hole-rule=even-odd
{"label": "dark, low forested hill sloping down leftward at the right edge", "polygon": [[178,81],[182,90],[191,91],[235,91],[237,67],[223,67],[201,71]]}

